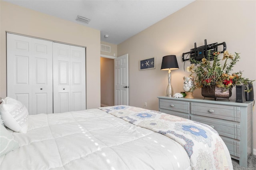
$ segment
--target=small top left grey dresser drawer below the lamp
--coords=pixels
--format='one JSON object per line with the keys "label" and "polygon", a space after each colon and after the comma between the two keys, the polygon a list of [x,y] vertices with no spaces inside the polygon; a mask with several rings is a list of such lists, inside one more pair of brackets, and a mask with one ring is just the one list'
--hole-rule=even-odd
{"label": "small top left grey dresser drawer below the lamp", "polygon": [[185,101],[171,101],[168,99],[160,99],[159,108],[182,113],[190,113],[190,104],[189,102]]}

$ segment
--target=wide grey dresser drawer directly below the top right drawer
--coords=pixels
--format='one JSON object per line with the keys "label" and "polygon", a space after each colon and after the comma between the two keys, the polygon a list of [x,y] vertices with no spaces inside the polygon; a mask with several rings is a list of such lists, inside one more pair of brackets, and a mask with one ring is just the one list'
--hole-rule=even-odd
{"label": "wide grey dresser drawer directly below the top right drawer", "polygon": [[214,128],[221,136],[240,140],[240,125],[236,125],[232,122],[222,121],[220,119],[211,119],[204,117],[191,116],[192,121],[204,123]]}

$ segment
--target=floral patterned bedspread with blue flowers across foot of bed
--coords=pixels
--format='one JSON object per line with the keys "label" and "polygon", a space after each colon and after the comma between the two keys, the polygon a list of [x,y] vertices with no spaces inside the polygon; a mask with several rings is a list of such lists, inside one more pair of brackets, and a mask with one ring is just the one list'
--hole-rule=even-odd
{"label": "floral patterned bedspread with blue flowers across foot of bed", "polygon": [[158,111],[119,105],[100,107],[102,111],[136,126],[159,132],[181,144],[194,170],[232,170],[228,148],[216,130],[203,123]]}

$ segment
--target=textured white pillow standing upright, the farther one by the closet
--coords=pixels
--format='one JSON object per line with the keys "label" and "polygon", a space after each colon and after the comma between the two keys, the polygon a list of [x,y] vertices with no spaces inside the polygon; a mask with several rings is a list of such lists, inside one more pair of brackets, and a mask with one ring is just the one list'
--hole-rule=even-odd
{"label": "textured white pillow standing upright, the farther one by the closet", "polygon": [[28,110],[20,101],[6,97],[0,105],[0,114],[6,127],[15,132],[28,131]]}

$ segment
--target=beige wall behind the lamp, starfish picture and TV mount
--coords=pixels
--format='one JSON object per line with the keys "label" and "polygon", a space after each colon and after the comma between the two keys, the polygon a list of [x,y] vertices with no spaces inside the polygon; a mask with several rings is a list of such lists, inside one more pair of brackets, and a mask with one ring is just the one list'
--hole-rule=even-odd
{"label": "beige wall behind the lamp, starfish picture and TV mount", "polygon": [[[184,71],[182,53],[198,46],[226,42],[227,50],[241,53],[234,71],[256,79],[256,1],[202,1],[197,0],[164,20],[154,24],[118,45],[118,55],[129,54],[129,103],[158,110],[157,96],[166,95],[168,71],[161,71],[162,57],[176,55],[180,69],[172,71],[174,93],[183,91]],[[156,57],[156,69],[139,71],[140,59]],[[185,68],[190,65],[187,61]],[[255,87],[254,82],[254,89]],[[235,99],[233,89],[232,99]],[[202,98],[201,90],[194,97]],[[256,90],[254,90],[256,98]],[[254,115],[256,109],[254,109]],[[256,148],[256,116],[254,116],[254,148]]]}

